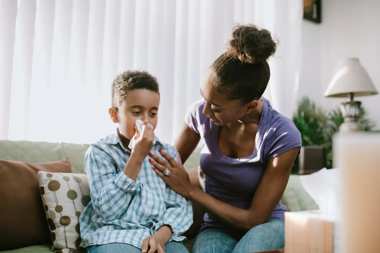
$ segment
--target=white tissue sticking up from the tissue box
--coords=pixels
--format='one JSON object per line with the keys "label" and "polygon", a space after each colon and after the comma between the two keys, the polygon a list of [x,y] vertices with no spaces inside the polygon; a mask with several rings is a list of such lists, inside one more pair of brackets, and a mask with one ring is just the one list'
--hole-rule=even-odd
{"label": "white tissue sticking up from the tissue box", "polygon": [[299,180],[319,206],[321,214],[339,216],[341,183],[338,168],[323,168],[315,173],[299,176]]}

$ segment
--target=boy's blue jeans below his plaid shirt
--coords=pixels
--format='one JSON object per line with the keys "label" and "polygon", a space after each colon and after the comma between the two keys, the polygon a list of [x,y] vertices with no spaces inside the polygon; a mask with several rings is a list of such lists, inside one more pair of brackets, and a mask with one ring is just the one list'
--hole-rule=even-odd
{"label": "boy's blue jeans below his plaid shirt", "polygon": [[[141,249],[130,244],[104,244],[87,248],[88,253],[141,253]],[[165,244],[166,253],[188,253],[182,242],[168,242]]]}

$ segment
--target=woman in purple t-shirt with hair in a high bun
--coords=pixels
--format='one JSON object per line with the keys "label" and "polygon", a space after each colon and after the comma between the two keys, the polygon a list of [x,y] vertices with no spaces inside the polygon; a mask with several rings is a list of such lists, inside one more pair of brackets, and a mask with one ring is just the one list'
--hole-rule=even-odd
{"label": "woman in purple t-shirt with hair in a high bun", "polygon": [[235,27],[230,48],[212,63],[200,85],[204,99],[188,108],[174,146],[185,161],[203,140],[200,166],[206,192],[191,184],[181,158],[176,162],[165,152],[165,159],[153,156],[154,170],[169,187],[207,210],[194,253],[252,253],[284,246],[286,207],[280,198],[301,135],[261,97],[270,77],[267,59],[275,50],[268,30]]}

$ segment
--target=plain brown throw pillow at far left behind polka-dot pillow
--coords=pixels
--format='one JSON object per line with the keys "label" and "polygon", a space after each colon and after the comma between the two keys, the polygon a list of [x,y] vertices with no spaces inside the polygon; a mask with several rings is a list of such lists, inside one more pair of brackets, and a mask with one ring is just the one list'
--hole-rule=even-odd
{"label": "plain brown throw pillow at far left behind polka-dot pillow", "polygon": [[0,160],[0,251],[51,244],[38,171],[71,173],[68,158],[44,163]]}

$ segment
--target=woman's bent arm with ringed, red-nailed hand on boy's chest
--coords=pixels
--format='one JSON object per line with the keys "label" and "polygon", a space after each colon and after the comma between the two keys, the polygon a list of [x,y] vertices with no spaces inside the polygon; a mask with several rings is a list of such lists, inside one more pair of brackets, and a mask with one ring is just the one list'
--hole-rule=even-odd
{"label": "woman's bent arm with ringed, red-nailed hand on boy's chest", "polygon": [[[155,170],[156,173],[171,189],[201,204],[208,212],[217,215],[232,226],[248,231],[257,225],[267,222],[271,217],[285,191],[291,167],[298,151],[299,147],[296,147],[269,160],[248,210],[217,200],[192,185],[180,161],[180,165],[178,165],[167,153],[162,152],[161,154],[170,164],[160,157],[154,156],[153,158],[158,163],[154,162],[153,165],[155,168],[158,168],[158,170]],[[169,177],[166,177],[161,171],[164,171],[168,166],[171,167],[171,174]]]}

